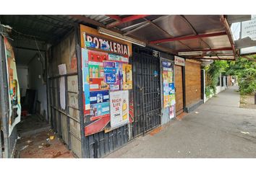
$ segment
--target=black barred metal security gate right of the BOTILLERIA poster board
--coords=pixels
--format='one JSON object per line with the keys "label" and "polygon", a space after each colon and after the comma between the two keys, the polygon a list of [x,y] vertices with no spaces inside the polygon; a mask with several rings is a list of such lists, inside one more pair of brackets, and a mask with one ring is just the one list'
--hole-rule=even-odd
{"label": "black barred metal security gate right of the BOTILLERIA poster board", "polygon": [[132,136],[161,124],[160,59],[152,50],[135,48],[132,57],[135,120]]}

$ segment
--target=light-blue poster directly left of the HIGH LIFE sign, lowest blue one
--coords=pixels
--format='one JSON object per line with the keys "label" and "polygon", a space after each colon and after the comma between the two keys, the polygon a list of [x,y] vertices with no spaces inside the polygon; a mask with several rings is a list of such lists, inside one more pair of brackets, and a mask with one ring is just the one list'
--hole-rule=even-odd
{"label": "light-blue poster directly left of the HIGH LIFE sign, lowest blue one", "polygon": [[90,115],[93,117],[109,115],[109,106],[109,102],[90,105]]}

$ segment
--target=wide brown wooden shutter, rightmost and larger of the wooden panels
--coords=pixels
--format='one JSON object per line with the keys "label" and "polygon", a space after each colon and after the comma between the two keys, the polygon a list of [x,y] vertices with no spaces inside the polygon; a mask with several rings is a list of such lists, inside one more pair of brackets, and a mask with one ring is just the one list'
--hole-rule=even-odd
{"label": "wide brown wooden shutter, rightmost and larger of the wooden panels", "polygon": [[201,99],[200,62],[186,60],[185,80],[186,80],[186,105],[188,106]]}

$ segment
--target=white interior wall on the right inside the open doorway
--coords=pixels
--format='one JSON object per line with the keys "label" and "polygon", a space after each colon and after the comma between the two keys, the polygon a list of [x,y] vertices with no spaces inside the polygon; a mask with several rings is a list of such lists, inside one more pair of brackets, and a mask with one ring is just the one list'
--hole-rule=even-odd
{"label": "white interior wall on the right inside the open doorway", "polygon": [[35,56],[35,58],[28,64],[28,76],[29,88],[37,90],[37,99],[41,103],[41,115],[43,115],[43,111],[45,111],[47,120],[46,83],[43,82],[43,67],[38,60],[38,56]]}

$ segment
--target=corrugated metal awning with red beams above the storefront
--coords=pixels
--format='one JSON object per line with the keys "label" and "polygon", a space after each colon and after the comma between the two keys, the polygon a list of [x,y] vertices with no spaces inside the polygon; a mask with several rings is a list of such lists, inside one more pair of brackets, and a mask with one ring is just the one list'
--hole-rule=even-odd
{"label": "corrugated metal awning with red beams above the storefront", "polygon": [[0,21],[48,43],[84,24],[105,27],[184,58],[234,60],[236,56],[230,24],[222,15],[12,15],[0,16]]}

